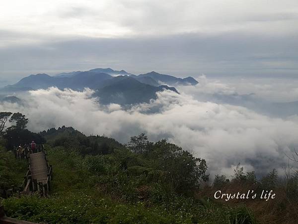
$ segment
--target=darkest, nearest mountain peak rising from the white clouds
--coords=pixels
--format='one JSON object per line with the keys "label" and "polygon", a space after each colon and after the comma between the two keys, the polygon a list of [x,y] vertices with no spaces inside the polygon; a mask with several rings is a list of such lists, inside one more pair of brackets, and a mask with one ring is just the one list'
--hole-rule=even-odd
{"label": "darkest, nearest mountain peak rising from the white clouds", "polygon": [[149,103],[150,99],[156,99],[156,92],[163,89],[178,93],[173,87],[154,87],[141,83],[132,77],[119,76],[114,78],[112,82],[110,81],[108,86],[98,89],[94,96],[99,98],[101,104],[131,105],[143,102]]}

